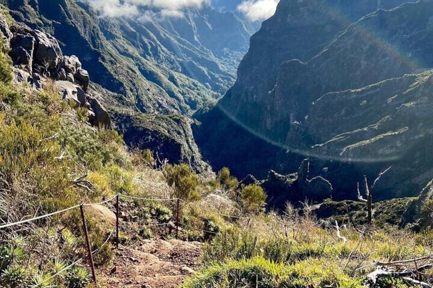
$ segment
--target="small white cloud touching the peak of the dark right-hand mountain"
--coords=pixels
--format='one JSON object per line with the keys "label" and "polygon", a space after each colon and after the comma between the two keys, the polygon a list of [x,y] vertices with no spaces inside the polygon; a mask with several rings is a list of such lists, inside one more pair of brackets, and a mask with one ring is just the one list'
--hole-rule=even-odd
{"label": "small white cloud touching the peak of the dark right-hand mountain", "polygon": [[279,0],[246,0],[237,6],[251,21],[266,20],[275,14]]}

